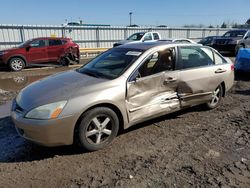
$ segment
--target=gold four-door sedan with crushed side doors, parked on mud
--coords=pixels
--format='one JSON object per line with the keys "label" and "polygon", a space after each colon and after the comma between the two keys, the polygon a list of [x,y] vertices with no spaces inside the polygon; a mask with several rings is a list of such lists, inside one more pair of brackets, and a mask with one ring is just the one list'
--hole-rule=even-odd
{"label": "gold four-door sedan with crushed side doors, parked on mud", "polygon": [[197,44],[121,45],[27,86],[13,101],[12,119],[21,136],[38,144],[75,140],[94,151],[119,129],[198,104],[216,108],[233,85],[233,69]]}

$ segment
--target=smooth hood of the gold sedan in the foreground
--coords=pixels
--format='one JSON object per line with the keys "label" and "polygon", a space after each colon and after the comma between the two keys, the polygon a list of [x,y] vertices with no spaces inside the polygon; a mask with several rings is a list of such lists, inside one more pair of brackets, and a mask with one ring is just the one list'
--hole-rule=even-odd
{"label": "smooth hood of the gold sedan in the foreground", "polygon": [[84,93],[80,90],[88,92],[89,87],[99,88],[97,85],[105,81],[109,80],[91,77],[75,70],[67,71],[28,85],[18,94],[16,102],[22,109],[29,111],[41,105],[68,100]]}

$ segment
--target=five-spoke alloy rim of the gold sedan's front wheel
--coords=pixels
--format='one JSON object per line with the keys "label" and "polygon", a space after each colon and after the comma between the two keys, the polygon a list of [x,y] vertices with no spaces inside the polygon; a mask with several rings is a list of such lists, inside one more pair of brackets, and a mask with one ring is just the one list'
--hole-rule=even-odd
{"label": "five-spoke alloy rim of the gold sedan's front wheel", "polygon": [[105,142],[112,133],[112,122],[108,116],[94,117],[87,127],[85,136],[92,144]]}

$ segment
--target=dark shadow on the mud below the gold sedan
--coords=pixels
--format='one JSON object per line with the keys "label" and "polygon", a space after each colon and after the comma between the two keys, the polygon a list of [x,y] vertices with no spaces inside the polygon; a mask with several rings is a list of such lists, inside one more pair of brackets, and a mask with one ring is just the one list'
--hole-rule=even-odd
{"label": "dark shadow on the mud below the gold sedan", "polygon": [[[137,124],[126,130],[120,131],[120,135],[127,134],[133,130],[141,129],[143,127],[165,121],[166,119],[177,119],[182,114],[193,111],[204,111],[202,106],[187,108],[175,113],[165,116],[154,118],[152,120]],[[43,147],[33,144],[20,137],[16,130],[14,123],[10,117],[0,119],[0,163],[13,163],[13,162],[29,162],[44,160],[47,158],[54,158],[57,156],[78,155],[87,153],[75,145],[60,146],[60,147]]]}

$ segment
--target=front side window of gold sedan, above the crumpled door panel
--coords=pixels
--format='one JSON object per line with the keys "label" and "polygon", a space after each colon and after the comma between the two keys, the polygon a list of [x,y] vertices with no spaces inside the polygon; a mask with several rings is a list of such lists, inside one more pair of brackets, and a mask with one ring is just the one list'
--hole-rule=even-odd
{"label": "front side window of gold sedan, above the crumpled door panel", "polygon": [[174,49],[155,52],[144,61],[138,72],[139,77],[146,77],[170,70],[174,70]]}

